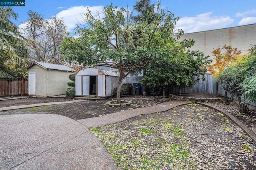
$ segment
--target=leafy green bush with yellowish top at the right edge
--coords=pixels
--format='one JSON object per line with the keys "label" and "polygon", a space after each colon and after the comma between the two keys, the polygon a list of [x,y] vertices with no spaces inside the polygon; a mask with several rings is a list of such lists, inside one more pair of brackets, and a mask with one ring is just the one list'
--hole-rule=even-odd
{"label": "leafy green bush with yellowish top at the right edge", "polygon": [[256,101],[256,50],[238,56],[220,72],[221,86],[238,100],[240,113],[248,112],[249,102]]}

